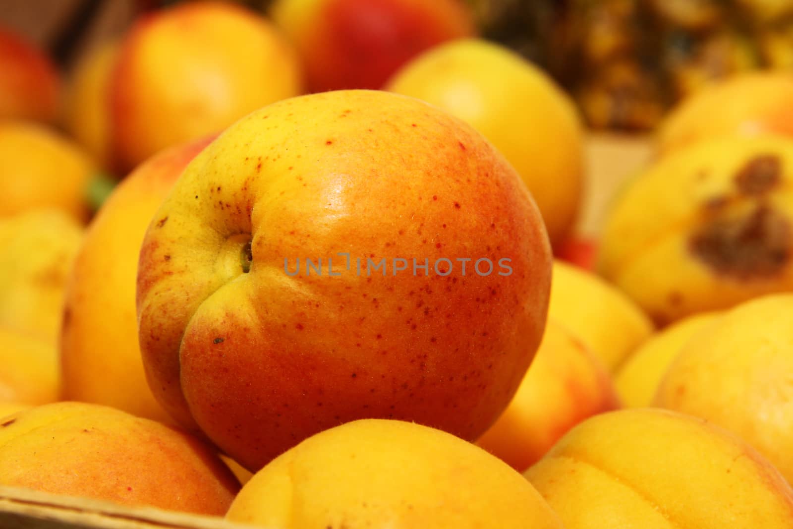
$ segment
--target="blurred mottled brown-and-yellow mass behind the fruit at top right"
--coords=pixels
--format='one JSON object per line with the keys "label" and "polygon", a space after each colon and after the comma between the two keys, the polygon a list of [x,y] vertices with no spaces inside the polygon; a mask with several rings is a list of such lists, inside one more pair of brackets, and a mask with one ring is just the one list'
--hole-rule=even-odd
{"label": "blurred mottled brown-and-yellow mass behind the fruit at top right", "polygon": [[527,56],[593,128],[649,130],[714,79],[793,68],[791,0],[469,0],[486,38]]}

